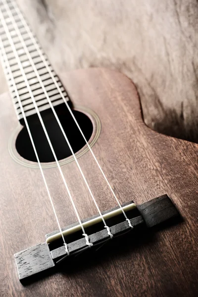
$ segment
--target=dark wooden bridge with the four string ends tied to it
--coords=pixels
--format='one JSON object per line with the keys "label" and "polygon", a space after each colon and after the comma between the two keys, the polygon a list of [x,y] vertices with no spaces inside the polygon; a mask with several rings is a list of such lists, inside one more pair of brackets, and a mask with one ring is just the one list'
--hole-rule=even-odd
{"label": "dark wooden bridge with the four string ends tied to it", "polygon": [[[122,207],[126,204],[127,203],[122,204]],[[115,208],[110,209],[107,212],[111,212],[114,209]],[[126,213],[127,218],[130,219],[130,223],[133,226],[133,230],[129,226],[129,223],[125,220],[123,215],[120,223],[115,224],[113,223],[112,219],[108,219],[105,221],[107,226],[110,227],[110,232],[113,235],[112,243],[114,243],[114,245],[114,240],[117,236],[129,233],[129,231],[132,231],[133,235],[134,231],[138,231],[139,236],[141,236],[142,231],[146,229],[146,227],[158,226],[161,225],[161,223],[167,223],[170,219],[179,217],[177,209],[175,208],[175,206],[173,205],[173,203],[167,195],[151,199],[148,202],[138,205],[138,210],[138,214],[140,214],[138,216],[137,213],[135,215],[133,211],[127,211]],[[104,212],[102,213],[102,215],[103,214]],[[91,219],[93,219],[93,217],[87,220],[89,221]],[[63,228],[62,230],[69,229],[75,226],[76,224],[79,223],[74,223],[70,226],[67,226],[66,228]],[[94,245],[92,247],[92,250],[97,250],[99,246],[102,246],[103,243],[110,240],[110,237],[107,234],[107,231],[103,228],[103,226],[100,228],[98,232],[94,231],[94,229],[93,231],[88,230],[89,228],[86,228],[85,232],[89,235],[89,242]],[[67,252],[65,251],[65,247],[63,245],[62,240],[59,247],[56,248],[51,248],[51,244],[47,245],[47,243],[42,243],[35,247],[30,247],[23,251],[17,252],[14,255],[14,258],[16,261],[19,279],[22,280],[27,277],[31,277],[37,273],[43,272],[44,270],[49,270],[50,268],[55,266],[55,263],[59,263],[65,258],[66,260],[70,259],[70,257],[72,257],[74,253],[81,253],[82,251],[89,249],[90,247],[87,246],[86,240],[82,237],[81,233],[82,232],[80,232],[80,239],[78,240],[70,240],[68,242],[68,237],[65,237],[65,242],[68,243],[67,247],[70,252],[69,257],[67,255]],[[49,235],[46,235],[46,238],[48,238],[48,236]],[[131,237],[131,233],[128,234],[128,236]],[[144,234],[142,234],[142,236],[144,236]],[[121,241],[123,241],[123,239],[121,239]],[[91,249],[89,250],[92,251]],[[55,263],[53,261],[55,261]]]}

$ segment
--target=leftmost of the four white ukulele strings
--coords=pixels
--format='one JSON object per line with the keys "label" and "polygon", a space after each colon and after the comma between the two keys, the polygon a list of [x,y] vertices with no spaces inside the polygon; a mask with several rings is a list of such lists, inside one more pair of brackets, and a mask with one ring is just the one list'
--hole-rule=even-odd
{"label": "leftmost of the four white ukulele strings", "polygon": [[26,119],[26,115],[25,115],[25,112],[24,112],[24,110],[23,110],[23,106],[22,106],[22,104],[21,104],[21,100],[20,100],[20,98],[19,98],[19,95],[18,95],[18,93],[17,93],[17,88],[16,88],[16,85],[15,85],[15,82],[14,82],[14,79],[13,79],[13,75],[12,75],[12,73],[11,73],[11,69],[10,69],[10,66],[9,66],[9,63],[8,63],[8,60],[7,60],[7,57],[6,57],[6,52],[5,52],[4,47],[2,46],[2,40],[1,40],[1,37],[0,37],[0,50],[1,50],[1,53],[2,53],[1,58],[3,57],[3,59],[2,59],[2,65],[3,65],[4,63],[6,64],[6,68],[4,68],[5,75],[6,75],[6,70],[8,70],[8,72],[9,72],[9,78],[10,78],[11,81],[12,81],[12,85],[13,85],[13,88],[14,88],[14,90],[15,90],[15,93],[16,93],[16,96],[17,96],[17,99],[18,99],[18,102],[19,102],[19,105],[20,105],[20,108],[21,108],[21,111],[22,111],[22,114],[23,114],[23,118],[24,118],[24,121],[25,121],[25,124],[26,124],[26,128],[27,128],[28,134],[29,134],[29,136],[30,136],[30,140],[31,140],[31,143],[32,143],[32,146],[33,146],[33,149],[34,149],[36,158],[37,158],[37,162],[38,162],[38,164],[39,164],[39,168],[40,168],[40,170],[41,170],[41,174],[42,174],[42,177],[43,177],[43,180],[44,180],[44,184],[45,184],[45,186],[46,186],[46,190],[47,190],[48,196],[49,196],[49,200],[50,200],[50,202],[51,202],[51,206],[52,206],[52,209],[53,209],[53,212],[54,212],[54,215],[55,215],[57,224],[58,224],[58,228],[59,228],[60,233],[61,233],[61,236],[62,236],[63,244],[64,244],[64,246],[65,246],[65,251],[66,251],[67,254],[69,255],[69,250],[68,250],[67,244],[66,244],[66,242],[65,242],[65,239],[64,239],[62,230],[61,230],[61,228],[60,228],[59,220],[58,220],[58,217],[57,217],[57,214],[56,214],[54,205],[53,205],[53,201],[52,201],[52,198],[51,198],[51,195],[50,195],[50,192],[49,192],[49,188],[48,188],[48,185],[47,185],[47,182],[46,182],[46,178],[45,178],[45,175],[44,175],[44,172],[43,172],[43,168],[42,168],[42,166],[41,166],[41,162],[40,162],[40,160],[39,160],[39,156],[38,156],[37,150],[36,150],[36,147],[35,147],[33,138],[32,138],[32,134],[31,134],[31,131],[30,131],[30,128],[29,128],[27,119]]}

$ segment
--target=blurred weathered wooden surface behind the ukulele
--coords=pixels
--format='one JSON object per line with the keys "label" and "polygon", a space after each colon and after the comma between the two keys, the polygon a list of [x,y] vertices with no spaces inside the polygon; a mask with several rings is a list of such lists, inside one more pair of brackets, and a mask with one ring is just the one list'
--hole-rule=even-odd
{"label": "blurred weathered wooden surface behind the ukulele", "polygon": [[116,68],[137,85],[150,128],[198,142],[197,0],[17,2],[60,78]]}

